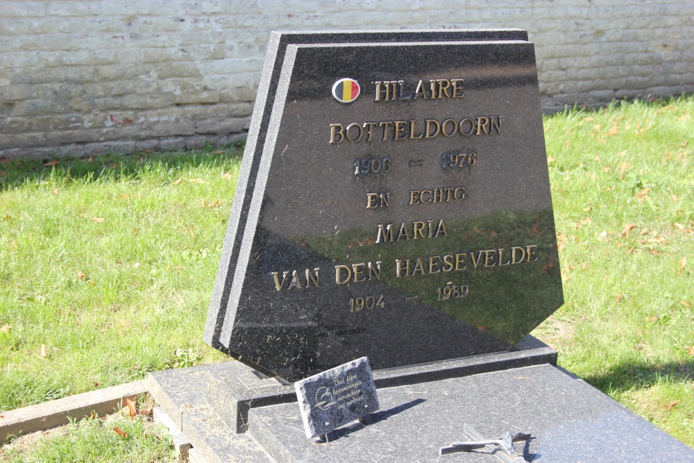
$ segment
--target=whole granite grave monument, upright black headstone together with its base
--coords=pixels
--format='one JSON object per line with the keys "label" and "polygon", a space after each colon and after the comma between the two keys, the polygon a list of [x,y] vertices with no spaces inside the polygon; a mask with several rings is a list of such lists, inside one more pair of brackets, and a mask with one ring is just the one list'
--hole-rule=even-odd
{"label": "whole granite grave monument, upright black headstone together with its base", "polygon": [[[241,362],[150,392],[205,462],[694,462],[528,335],[562,302],[525,31],[273,33],[205,326]],[[307,439],[364,356],[380,410]]]}

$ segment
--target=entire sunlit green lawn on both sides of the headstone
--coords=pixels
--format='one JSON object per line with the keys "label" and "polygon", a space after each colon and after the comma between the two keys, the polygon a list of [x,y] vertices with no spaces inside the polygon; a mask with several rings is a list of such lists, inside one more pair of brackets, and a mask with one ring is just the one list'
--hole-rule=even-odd
{"label": "entire sunlit green lawn on both sides of the headstone", "polygon": [[[545,117],[566,303],[533,332],[690,446],[693,113]],[[0,160],[0,413],[226,358],[202,332],[240,154]]]}

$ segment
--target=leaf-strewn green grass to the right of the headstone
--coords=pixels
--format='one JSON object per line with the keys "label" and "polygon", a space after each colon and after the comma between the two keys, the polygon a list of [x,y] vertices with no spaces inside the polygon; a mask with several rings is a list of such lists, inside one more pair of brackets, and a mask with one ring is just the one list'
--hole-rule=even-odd
{"label": "leaf-strewn green grass to the right of the headstone", "polygon": [[562,366],[690,446],[693,115],[690,96],[545,118],[566,303],[534,331]]}

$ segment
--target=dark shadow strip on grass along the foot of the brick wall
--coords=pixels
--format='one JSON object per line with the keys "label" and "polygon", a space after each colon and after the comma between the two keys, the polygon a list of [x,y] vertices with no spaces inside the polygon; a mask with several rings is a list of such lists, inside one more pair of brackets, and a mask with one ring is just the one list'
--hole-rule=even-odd
{"label": "dark shadow strip on grass along the foot of the brick wall", "polygon": [[0,158],[0,192],[24,183],[67,180],[94,183],[100,180],[136,180],[143,172],[180,171],[201,166],[214,167],[229,159],[240,159],[244,144],[190,151],[105,154],[90,158],[10,159]]}

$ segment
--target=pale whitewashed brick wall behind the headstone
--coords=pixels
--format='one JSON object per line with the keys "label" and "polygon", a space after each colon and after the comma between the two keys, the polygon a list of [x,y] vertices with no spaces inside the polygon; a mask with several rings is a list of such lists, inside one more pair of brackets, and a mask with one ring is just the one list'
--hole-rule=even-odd
{"label": "pale whitewashed brick wall behind the headstone", "polygon": [[507,27],[545,110],[694,92],[690,0],[0,0],[0,156],[231,140],[273,29]]}

